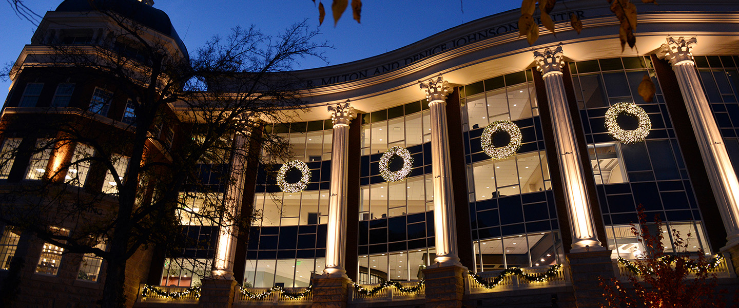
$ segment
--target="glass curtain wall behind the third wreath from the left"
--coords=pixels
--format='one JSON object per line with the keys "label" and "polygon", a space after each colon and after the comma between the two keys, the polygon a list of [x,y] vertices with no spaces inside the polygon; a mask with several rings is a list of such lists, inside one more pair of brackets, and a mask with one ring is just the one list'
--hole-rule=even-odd
{"label": "glass curtain wall behind the third wreath from the left", "polygon": [[[460,95],[463,129],[469,138],[469,202],[475,205],[470,215],[473,233],[479,235],[473,242],[476,271],[561,263],[562,240],[550,222],[556,213],[549,213],[547,203],[551,178],[532,72],[471,83],[460,89]],[[480,144],[483,129],[497,120],[513,122],[522,134],[517,154],[503,160],[491,159]],[[494,146],[507,146],[510,137],[505,132],[494,134]],[[529,195],[517,197],[522,194]]]}

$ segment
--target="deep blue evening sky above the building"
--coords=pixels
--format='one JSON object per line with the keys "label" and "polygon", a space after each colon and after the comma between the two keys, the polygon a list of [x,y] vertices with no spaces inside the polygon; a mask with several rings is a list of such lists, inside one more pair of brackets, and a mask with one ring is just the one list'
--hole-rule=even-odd
{"label": "deep blue evening sky above the building", "polygon": [[[316,0],[317,2],[318,0]],[[357,24],[350,8],[333,27],[330,0],[324,0],[327,16],[319,27],[320,40],[336,49],[327,49],[330,64],[304,59],[299,69],[342,64],[380,55],[412,44],[443,30],[520,7],[520,0],[364,0],[362,22]],[[39,15],[54,10],[61,0],[26,0]],[[35,26],[18,18],[6,1],[0,1],[0,64],[18,58],[24,44],[30,43]],[[165,11],[190,52],[213,35],[227,35],[232,27],[253,24],[268,34],[307,18],[318,27],[318,9],[311,0],[155,0],[154,7]],[[0,81],[2,97],[10,81]]]}

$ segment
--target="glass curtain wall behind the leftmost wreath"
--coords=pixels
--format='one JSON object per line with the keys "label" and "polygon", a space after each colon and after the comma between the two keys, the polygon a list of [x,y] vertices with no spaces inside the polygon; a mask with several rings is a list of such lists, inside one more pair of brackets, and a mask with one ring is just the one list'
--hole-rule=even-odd
{"label": "glass curtain wall behind the leftmost wreath", "polygon": [[[262,213],[262,217],[253,222],[253,226],[261,227],[261,233],[250,237],[249,250],[259,250],[259,258],[253,251],[250,255],[253,258],[246,260],[244,285],[307,287],[310,278],[320,275],[326,264],[325,258],[313,254],[313,251],[317,240],[325,241],[318,239],[325,237],[325,233],[316,231],[316,227],[328,222],[330,168],[325,167],[330,166],[333,127],[330,120],[324,120],[275,126],[273,132],[290,143],[290,160],[307,163],[311,179],[308,187],[298,193],[285,193],[276,186],[270,190],[279,165],[270,171],[268,177],[271,179],[265,177],[261,182],[258,179],[258,186],[266,184],[267,188],[259,192],[258,187],[254,197],[254,208]],[[290,172],[287,174],[288,182],[289,177]],[[302,248],[310,249],[310,257],[301,257],[302,253],[309,251]]]}

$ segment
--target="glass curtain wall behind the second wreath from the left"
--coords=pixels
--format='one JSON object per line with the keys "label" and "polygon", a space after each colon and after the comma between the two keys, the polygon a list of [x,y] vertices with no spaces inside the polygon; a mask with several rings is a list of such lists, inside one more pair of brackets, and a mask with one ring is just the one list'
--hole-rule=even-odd
{"label": "glass curtain wall behind the second wreath from the left", "polygon": [[[428,147],[431,120],[427,109],[428,103],[422,100],[361,115],[363,156],[357,269],[361,284],[423,278],[420,270],[435,258],[433,229],[426,224],[427,217],[423,214],[433,210],[434,198]],[[412,171],[405,179],[387,182],[380,176],[379,160],[395,146],[409,151],[413,158]],[[401,158],[395,157],[388,169],[398,171],[402,165]]]}

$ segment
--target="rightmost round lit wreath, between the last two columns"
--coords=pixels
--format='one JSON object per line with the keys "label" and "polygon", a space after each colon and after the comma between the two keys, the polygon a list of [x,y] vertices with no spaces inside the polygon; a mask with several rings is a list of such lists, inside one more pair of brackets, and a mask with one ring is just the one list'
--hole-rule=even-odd
{"label": "rightmost round lit wreath, between the last two columns", "polygon": [[[639,126],[636,129],[627,131],[621,129],[619,123],[616,123],[616,118],[621,113],[631,114],[636,117],[639,121]],[[652,129],[652,121],[650,121],[647,112],[644,112],[635,103],[616,103],[610,106],[607,112],[605,112],[605,128],[608,130],[613,139],[621,141],[621,143],[640,143],[644,141],[644,137],[647,137],[650,129]]]}

